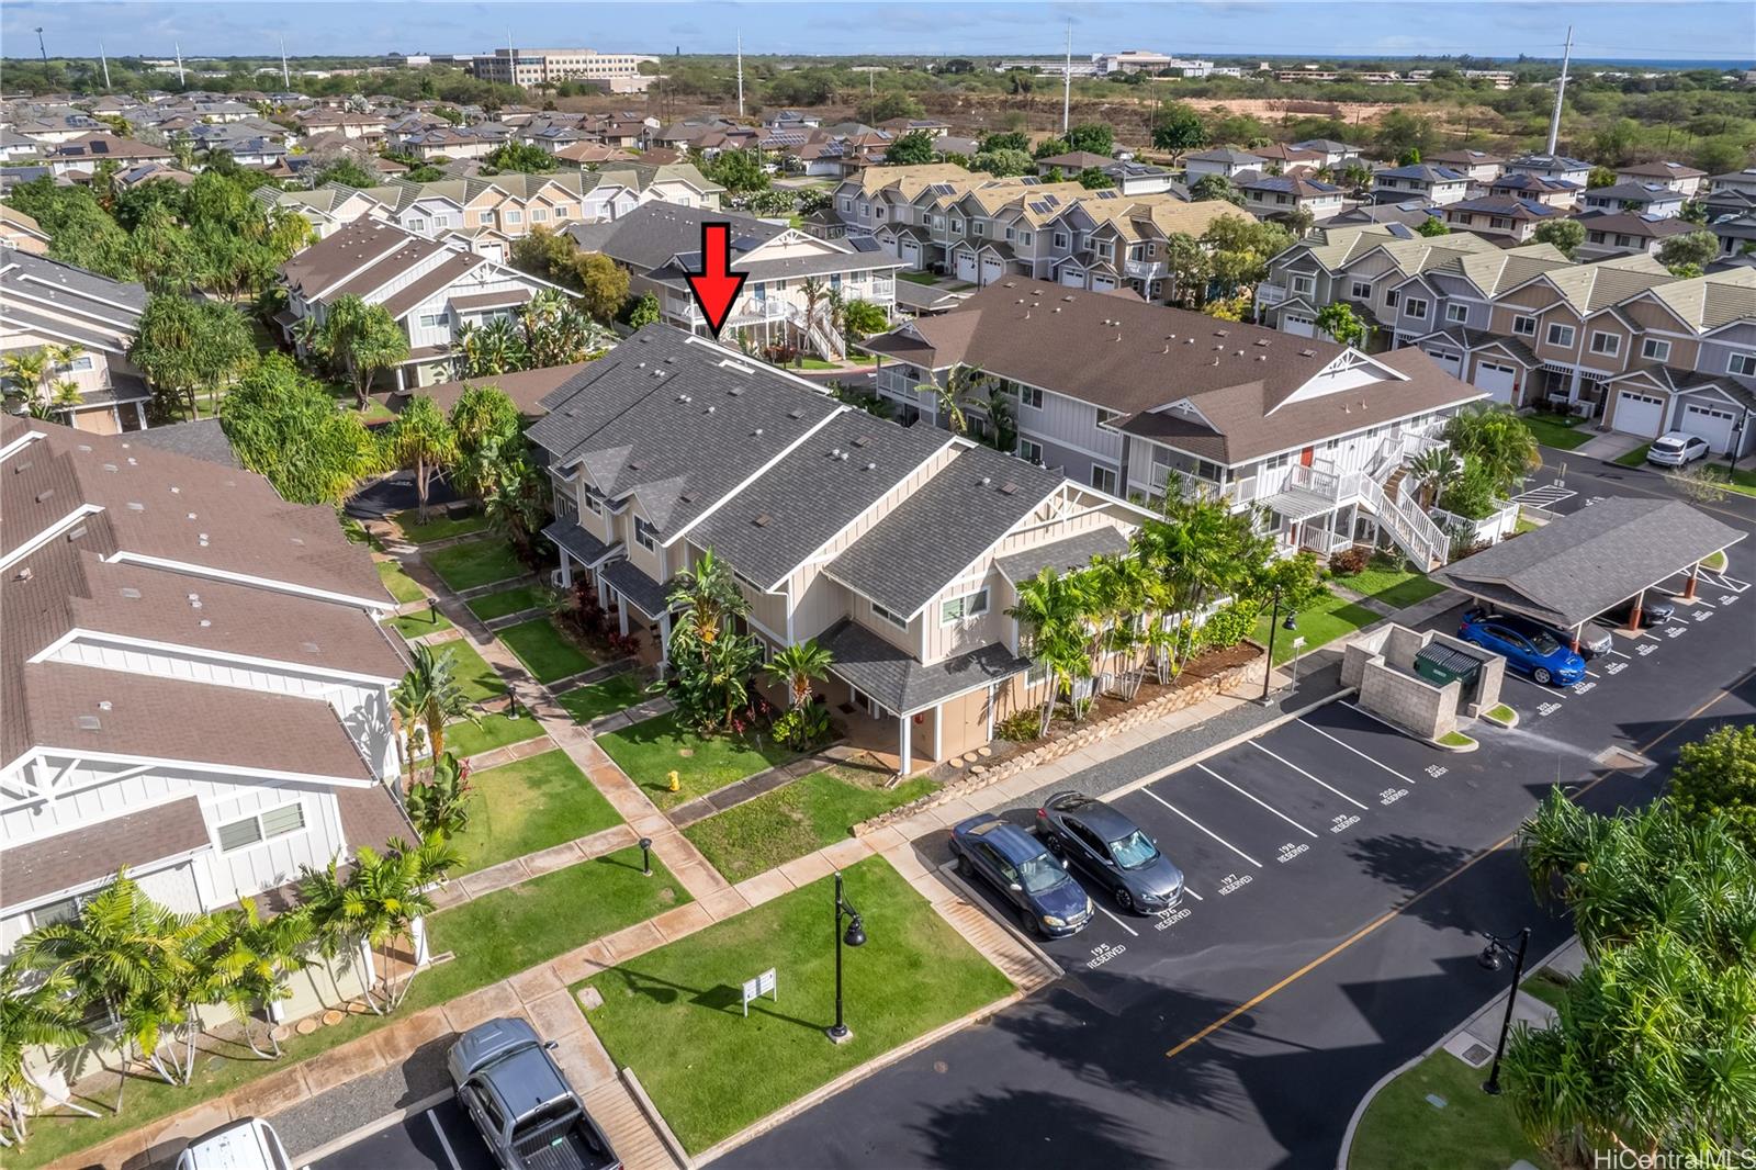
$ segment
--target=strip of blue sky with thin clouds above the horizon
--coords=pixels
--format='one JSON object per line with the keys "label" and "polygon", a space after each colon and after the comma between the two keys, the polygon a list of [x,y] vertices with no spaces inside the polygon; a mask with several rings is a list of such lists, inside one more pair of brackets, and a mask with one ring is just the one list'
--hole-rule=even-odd
{"label": "strip of blue sky with thin clouds above the horizon", "polygon": [[483,53],[594,47],[667,54],[730,53],[741,32],[759,53],[1061,53],[1068,21],[1076,56],[1119,49],[1206,54],[1561,56],[1566,26],[1586,60],[1733,60],[1756,63],[1751,0],[1180,0],[1177,4],[873,0],[797,4],[374,4],[228,0],[227,4],[9,0],[0,53],[33,56],[40,26],[51,56]]}

